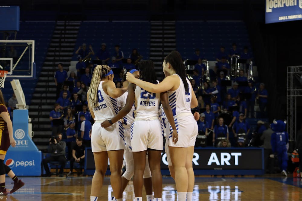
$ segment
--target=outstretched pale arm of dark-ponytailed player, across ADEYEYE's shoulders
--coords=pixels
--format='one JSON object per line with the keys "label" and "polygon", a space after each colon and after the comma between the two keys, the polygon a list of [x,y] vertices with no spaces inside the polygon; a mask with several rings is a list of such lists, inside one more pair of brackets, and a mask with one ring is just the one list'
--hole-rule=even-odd
{"label": "outstretched pale arm of dark-ponytailed player, across ADEYEYE's shoulders", "polygon": [[149,83],[140,79],[137,79],[134,77],[134,75],[130,72],[127,72],[126,74],[126,80],[130,83],[133,83],[144,90],[150,92],[150,93],[161,93],[165,91],[169,91],[172,89],[172,87],[175,85],[175,80],[172,76],[166,77],[162,82],[158,84]]}

